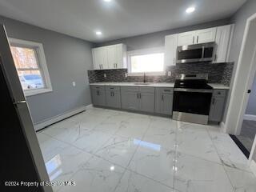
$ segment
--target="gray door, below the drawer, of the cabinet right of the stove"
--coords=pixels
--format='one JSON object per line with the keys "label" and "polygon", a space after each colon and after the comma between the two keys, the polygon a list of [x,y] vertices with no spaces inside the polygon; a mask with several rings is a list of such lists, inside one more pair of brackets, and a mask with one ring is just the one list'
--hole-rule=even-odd
{"label": "gray door, below the drawer, of the cabinet right of the stove", "polygon": [[213,97],[211,106],[210,106],[209,120],[213,122],[221,122],[224,107],[225,107],[225,97]]}

